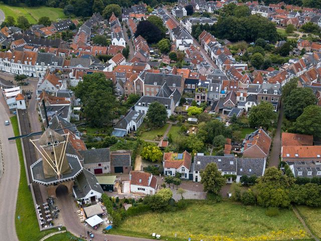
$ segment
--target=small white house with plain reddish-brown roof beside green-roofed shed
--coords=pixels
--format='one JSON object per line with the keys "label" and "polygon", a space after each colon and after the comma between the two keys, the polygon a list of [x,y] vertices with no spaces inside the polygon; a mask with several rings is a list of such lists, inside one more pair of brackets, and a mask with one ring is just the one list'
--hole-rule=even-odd
{"label": "small white house with plain reddish-brown roof beside green-roofed shed", "polygon": [[130,192],[153,195],[157,189],[157,178],[151,173],[130,171]]}

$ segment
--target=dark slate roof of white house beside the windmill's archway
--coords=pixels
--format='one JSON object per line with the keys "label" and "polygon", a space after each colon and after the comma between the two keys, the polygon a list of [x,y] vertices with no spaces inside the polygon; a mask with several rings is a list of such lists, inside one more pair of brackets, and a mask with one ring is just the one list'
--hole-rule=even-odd
{"label": "dark slate roof of white house beside the windmill's archway", "polygon": [[104,193],[95,175],[86,169],[75,179],[73,187],[77,198],[84,198],[91,190]]}

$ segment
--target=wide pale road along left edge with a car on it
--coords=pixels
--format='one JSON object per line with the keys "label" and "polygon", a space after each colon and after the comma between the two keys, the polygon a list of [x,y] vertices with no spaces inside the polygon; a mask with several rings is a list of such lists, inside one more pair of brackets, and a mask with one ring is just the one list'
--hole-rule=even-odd
{"label": "wide pale road along left edge with a car on it", "polygon": [[[0,99],[4,97],[1,95]],[[1,240],[18,241],[15,227],[16,200],[20,178],[20,164],[17,146],[9,144],[8,138],[14,136],[12,126],[4,126],[9,120],[7,106],[0,103],[0,139],[4,156],[5,170],[0,179],[0,235]]]}

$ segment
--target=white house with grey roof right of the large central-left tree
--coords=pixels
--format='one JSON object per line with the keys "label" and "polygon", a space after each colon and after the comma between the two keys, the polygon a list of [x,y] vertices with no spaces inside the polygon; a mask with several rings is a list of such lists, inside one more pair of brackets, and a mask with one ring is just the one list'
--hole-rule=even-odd
{"label": "white house with grey roof right of the large central-left tree", "polygon": [[115,137],[123,137],[131,131],[136,131],[143,120],[144,115],[141,112],[130,110],[129,113],[116,124],[112,135]]}

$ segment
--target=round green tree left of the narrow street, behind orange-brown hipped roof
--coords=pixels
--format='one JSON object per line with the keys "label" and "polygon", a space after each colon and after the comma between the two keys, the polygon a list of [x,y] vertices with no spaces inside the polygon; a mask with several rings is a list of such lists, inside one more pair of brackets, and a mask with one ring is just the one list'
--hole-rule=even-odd
{"label": "round green tree left of the narrow street, behind orange-brown hipped roof", "polygon": [[253,106],[249,111],[248,119],[251,127],[262,127],[267,130],[276,119],[273,105],[270,102],[262,101],[258,105]]}

